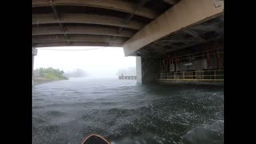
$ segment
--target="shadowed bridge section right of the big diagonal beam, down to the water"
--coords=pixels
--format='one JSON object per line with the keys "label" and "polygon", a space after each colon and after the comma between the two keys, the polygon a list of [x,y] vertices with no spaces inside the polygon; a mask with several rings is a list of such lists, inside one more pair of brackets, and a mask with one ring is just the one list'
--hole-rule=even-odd
{"label": "shadowed bridge section right of the big diagonal beam, down to the water", "polygon": [[130,54],[137,56],[137,81],[224,82],[224,16],[160,38]]}

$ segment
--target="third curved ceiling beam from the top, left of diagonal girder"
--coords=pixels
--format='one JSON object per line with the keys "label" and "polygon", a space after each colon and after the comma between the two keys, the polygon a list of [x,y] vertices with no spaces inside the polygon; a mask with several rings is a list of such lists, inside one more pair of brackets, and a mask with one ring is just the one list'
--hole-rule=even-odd
{"label": "third curved ceiling beam from the top, left of diagonal girder", "polygon": [[[130,30],[122,30],[119,34],[116,28],[100,26],[65,26],[66,34],[93,34],[93,35],[110,35],[116,37],[130,38],[135,33]],[[59,26],[32,26],[32,36],[63,34]]]}

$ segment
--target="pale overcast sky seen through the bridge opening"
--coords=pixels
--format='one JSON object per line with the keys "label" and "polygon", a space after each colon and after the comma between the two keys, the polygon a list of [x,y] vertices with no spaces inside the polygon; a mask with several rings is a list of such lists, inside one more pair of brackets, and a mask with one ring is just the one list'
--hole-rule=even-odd
{"label": "pale overcast sky seen through the bridge opening", "polygon": [[82,69],[93,77],[116,77],[118,69],[135,67],[135,61],[135,57],[125,57],[121,47],[45,47],[38,48],[38,55],[34,57],[34,69]]}

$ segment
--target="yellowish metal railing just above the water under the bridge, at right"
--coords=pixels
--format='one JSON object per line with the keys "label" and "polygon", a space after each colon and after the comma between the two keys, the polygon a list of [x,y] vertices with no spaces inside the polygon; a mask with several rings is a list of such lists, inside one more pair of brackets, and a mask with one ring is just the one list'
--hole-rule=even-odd
{"label": "yellowish metal railing just above the water under the bridge, at right", "polygon": [[193,70],[155,74],[157,80],[224,81],[224,70]]}

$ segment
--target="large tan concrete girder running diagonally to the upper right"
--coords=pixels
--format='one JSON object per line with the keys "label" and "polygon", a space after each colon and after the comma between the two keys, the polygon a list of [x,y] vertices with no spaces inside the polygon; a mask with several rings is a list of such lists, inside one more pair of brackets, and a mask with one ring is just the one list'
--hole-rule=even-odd
{"label": "large tan concrete girder running diagonally to the upper right", "polygon": [[222,15],[224,13],[224,2],[221,2],[221,6],[216,7],[214,5],[215,1],[182,0],[178,2],[125,42],[122,45],[125,55],[133,54],[143,46],[178,30]]}

